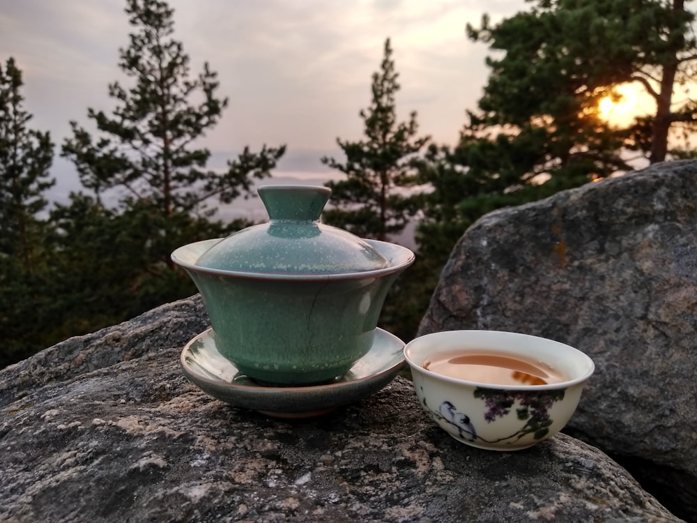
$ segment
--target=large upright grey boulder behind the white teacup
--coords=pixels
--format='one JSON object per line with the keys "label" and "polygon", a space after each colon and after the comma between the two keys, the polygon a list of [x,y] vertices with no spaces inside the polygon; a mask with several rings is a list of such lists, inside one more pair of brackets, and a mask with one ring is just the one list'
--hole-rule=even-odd
{"label": "large upright grey boulder behind the white teacup", "polygon": [[697,162],[680,161],[484,216],[420,334],[516,331],[589,354],[597,370],[569,433],[634,458],[697,521],[696,305]]}

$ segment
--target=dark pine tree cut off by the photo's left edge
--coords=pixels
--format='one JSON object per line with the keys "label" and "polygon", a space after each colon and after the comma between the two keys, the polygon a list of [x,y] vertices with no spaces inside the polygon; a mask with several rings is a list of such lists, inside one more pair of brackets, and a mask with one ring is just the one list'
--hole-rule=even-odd
{"label": "dark pine tree cut off by the photo's left edge", "polygon": [[31,354],[40,344],[48,301],[49,229],[40,213],[53,144],[48,132],[29,129],[22,72],[15,60],[0,64],[0,367]]}

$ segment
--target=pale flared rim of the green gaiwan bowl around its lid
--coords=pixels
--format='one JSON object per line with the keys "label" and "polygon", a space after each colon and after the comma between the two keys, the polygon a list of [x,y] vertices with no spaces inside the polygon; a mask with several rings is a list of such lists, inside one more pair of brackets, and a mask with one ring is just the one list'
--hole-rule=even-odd
{"label": "pale flared rim of the green gaiwan bowl around its lid", "polygon": [[195,241],[188,243],[172,252],[171,259],[178,266],[185,268],[187,271],[194,273],[204,273],[218,275],[227,278],[245,278],[248,280],[358,280],[360,278],[380,278],[410,266],[415,255],[411,249],[390,243],[388,241],[369,240],[362,238],[363,241],[369,243],[374,249],[378,250],[385,258],[388,259],[389,266],[368,271],[353,271],[347,273],[282,273],[282,272],[252,272],[252,271],[236,271],[233,269],[208,268],[197,265],[199,257],[216,243],[225,238],[213,238],[209,240]]}

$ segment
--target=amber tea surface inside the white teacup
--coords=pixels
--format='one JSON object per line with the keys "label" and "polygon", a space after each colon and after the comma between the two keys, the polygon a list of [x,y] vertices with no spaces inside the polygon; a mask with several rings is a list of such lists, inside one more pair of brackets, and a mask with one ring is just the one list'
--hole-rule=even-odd
{"label": "amber tea surface inside the white teacup", "polygon": [[546,385],[567,380],[541,361],[484,351],[440,352],[428,358],[423,367],[444,376],[491,385]]}

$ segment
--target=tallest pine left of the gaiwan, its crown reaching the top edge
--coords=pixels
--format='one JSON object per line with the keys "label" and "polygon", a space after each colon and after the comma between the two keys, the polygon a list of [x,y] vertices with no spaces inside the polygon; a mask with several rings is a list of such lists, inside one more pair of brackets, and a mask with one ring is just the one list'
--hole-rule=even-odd
{"label": "tallest pine left of the gaiwan, its crown reaching the top edge", "polygon": [[120,188],[125,209],[146,203],[160,216],[200,213],[209,199],[229,203],[246,195],[251,179],[268,176],[285,146],[263,146],[259,153],[245,147],[225,172],[206,169],[210,151],[194,144],[228,104],[215,96],[216,73],[206,63],[197,77],[190,75],[190,58],[173,38],[174,10],[167,3],[128,0],[125,12],[136,31],[121,49],[118,66],[133,84],[109,85],[116,100],[112,116],[89,109],[98,138],[71,122],[73,137],[63,144],[63,156],[98,199]]}

